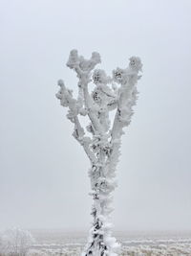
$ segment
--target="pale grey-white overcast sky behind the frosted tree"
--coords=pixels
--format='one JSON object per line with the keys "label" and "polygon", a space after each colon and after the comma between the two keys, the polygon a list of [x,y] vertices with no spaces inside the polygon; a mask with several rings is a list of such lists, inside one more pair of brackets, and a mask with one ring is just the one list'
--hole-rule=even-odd
{"label": "pale grey-white overcast sky behind the frosted tree", "polygon": [[87,230],[89,161],[54,94],[76,48],[143,62],[123,136],[117,230],[191,229],[191,1],[0,0],[0,229]]}

